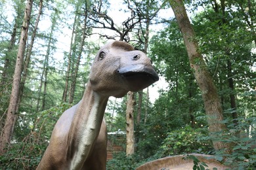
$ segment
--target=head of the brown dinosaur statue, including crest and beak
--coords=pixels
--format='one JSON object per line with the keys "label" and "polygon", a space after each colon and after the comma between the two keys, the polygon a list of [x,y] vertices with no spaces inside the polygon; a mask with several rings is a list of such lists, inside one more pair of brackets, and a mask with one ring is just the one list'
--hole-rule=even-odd
{"label": "head of the brown dinosaur statue, including crest and beak", "polygon": [[127,42],[113,41],[96,54],[89,80],[100,95],[123,97],[150,86],[159,77],[146,54]]}

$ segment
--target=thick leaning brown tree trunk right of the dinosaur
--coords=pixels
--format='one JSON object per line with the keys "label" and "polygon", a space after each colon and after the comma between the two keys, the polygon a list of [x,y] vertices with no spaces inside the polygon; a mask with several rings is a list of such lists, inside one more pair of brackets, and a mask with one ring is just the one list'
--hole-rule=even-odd
{"label": "thick leaning brown tree trunk right of the dinosaur", "polygon": [[207,65],[203,60],[202,54],[200,54],[198,42],[195,39],[195,33],[186,14],[184,4],[182,0],[170,0],[169,3],[175,13],[179,29],[181,29],[184,44],[188,52],[190,67],[194,72],[194,76],[202,92],[213,147],[215,150],[226,149],[226,152],[231,152],[230,144],[219,141],[217,137],[217,133],[226,131],[226,126],[223,123],[221,101],[217,93],[217,88],[207,71]]}

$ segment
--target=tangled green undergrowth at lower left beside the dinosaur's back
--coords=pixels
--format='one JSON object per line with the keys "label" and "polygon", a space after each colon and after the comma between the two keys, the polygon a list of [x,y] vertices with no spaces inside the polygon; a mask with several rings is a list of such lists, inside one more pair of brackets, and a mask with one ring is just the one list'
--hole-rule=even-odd
{"label": "tangled green undergrowth at lower left beside the dinosaur's back", "polygon": [[0,156],[0,166],[3,169],[35,169],[48,146],[54,124],[62,112],[70,107],[70,104],[62,103],[37,115],[26,113],[26,117],[32,118],[34,123],[24,125],[23,129],[29,131],[24,138],[24,132],[16,131],[11,146]]}

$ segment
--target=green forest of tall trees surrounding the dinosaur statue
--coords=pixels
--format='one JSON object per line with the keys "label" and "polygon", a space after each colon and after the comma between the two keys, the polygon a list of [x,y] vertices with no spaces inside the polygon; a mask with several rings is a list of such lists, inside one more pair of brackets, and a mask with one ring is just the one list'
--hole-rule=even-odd
{"label": "green forest of tall trees surrounding the dinosaur statue", "polygon": [[[109,101],[108,131],[133,136],[108,169],[188,153],[215,155],[235,169],[255,168],[255,1],[115,4],[0,1],[0,167],[35,169],[56,120],[81,99],[96,51],[117,39],[146,52],[167,86],[157,97],[148,88]],[[182,7],[190,30],[180,22]],[[218,114],[209,110],[213,97],[221,104]]]}

